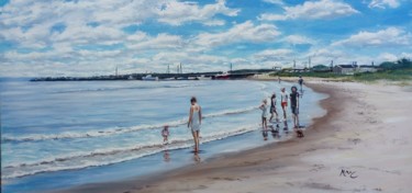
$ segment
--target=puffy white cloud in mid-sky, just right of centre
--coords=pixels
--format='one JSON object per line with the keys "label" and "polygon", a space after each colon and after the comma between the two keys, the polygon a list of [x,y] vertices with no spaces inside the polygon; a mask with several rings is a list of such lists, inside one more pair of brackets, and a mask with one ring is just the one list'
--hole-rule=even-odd
{"label": "puffy white cloud in mid-sky, just right of centre", "polygon": [[238,42],[261,43],[274,41],[280,32],[272,24],[254,25],[250,21],[236,24],[222,33],[201,33],[194,38],[200,46],[212,47]]}

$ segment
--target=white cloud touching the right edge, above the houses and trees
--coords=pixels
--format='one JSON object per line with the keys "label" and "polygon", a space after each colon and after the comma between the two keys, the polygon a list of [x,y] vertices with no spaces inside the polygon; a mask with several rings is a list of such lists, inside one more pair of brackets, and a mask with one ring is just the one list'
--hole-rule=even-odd
{"label": "white cloud touching the right edge, above the houses and trees", "polygon": [[333,46],[410,46],[412,34],[397,27],[388,27],[378,32],[359,32],[347,39],[337,41]]}

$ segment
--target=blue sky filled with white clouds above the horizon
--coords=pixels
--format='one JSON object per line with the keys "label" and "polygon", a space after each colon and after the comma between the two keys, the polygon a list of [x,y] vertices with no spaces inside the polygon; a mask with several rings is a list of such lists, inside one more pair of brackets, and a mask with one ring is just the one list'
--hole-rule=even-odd
{"label": "blue sky filled with white clouds above the horizon", "polygon": [[412,58],[411,0],[0,0],[0,77]]}

